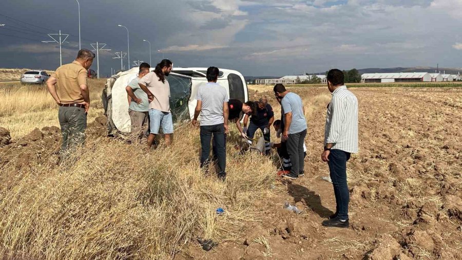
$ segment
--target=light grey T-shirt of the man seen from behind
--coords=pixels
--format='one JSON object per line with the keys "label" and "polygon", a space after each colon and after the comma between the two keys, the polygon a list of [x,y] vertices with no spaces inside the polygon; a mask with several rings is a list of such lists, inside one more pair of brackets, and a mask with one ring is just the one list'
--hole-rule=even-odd
{"label": "light grey T-shirt of the man seen from behind", "polygon": [[223,86],[208,82],[197,89],[197,100],[202,101],[201,125],[224,123],[223,104],[228,102],[228,92]]}

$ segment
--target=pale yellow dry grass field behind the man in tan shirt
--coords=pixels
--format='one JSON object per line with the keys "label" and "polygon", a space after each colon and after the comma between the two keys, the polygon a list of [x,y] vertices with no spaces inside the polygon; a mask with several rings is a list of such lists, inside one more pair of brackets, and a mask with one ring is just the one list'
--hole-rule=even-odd
{"label": "pale yellow dry grass field behind the man in tan shirt", "polygon": [[[91,122],[103,114],[101,91],[105,80],[89,79],[88,84],[91,100],[88,122]],[[36,127],[60,125],[58,106],[45,85],[3,85],[0,86],[0,96],[0,126],[7,128],[14,139],[27,135]]]}

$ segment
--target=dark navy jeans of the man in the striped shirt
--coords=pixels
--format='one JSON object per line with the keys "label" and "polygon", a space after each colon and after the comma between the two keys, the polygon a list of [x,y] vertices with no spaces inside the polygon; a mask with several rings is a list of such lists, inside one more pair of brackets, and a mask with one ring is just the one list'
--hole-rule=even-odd
{"label": "dark navy jeans of the man in the striped shirt", "polygon": [[342,220],[348,219],[350,192],[347,184],[347,161],[350,159],[350,155],[350,153],[342,150],[333,149],[328,157],[329,171],[334,185],[335,202],[337,203],[336,213]]}

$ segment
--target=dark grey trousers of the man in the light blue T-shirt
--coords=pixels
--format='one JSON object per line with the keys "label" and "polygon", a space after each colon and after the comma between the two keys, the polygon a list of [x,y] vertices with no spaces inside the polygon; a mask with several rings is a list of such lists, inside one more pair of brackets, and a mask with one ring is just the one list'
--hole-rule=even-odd
{"label": "dark grey trousers of the man in the light blue T-shirt", "polygon": [[289,134],[286,141],[287,153],[291,158],[291,174],[298,175],[303,172],[305,163],[303,156],[303,142],[305,141],[306,129],[296,134]]}

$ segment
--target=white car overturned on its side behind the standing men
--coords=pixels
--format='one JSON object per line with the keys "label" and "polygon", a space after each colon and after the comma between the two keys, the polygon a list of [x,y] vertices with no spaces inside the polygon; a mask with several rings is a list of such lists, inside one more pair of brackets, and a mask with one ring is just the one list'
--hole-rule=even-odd
{"label": "white car overturned on its side behind the standing men", "polygon": [[[151,71],[154,68],[151,68]],[[247,85],[241,73],[231,69],[219,69],[217,83],[225,87],[230,99],[242,102],[248,100]],[[201,84],[206,84],[207,68],[173,68],[166,77],[170,85],[170,109],[174,123],[191,120],[196,108],[196,92]],[[139,68],[113,75],[103,90],[103,105],[107,116],[109,135],[117,132],[130,133],[130,116],[125,87],[138,76]]]}

